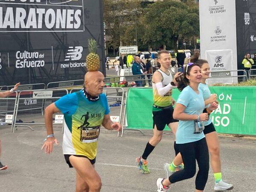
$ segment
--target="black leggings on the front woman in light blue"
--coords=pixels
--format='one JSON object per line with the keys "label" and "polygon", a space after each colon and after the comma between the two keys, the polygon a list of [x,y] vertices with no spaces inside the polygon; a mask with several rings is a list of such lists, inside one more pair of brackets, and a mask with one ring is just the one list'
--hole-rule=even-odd
{"label": "black leggings on the front woman in light blue", "polygon": [[176,183],[194,177],[196,172],[195,160],[197,160],[199,171],[195,179],[195,189],[204,190],[209,172],[209,152],[206,139],[176,145],[180,150],[184,169],[172,174],[169,181]]}

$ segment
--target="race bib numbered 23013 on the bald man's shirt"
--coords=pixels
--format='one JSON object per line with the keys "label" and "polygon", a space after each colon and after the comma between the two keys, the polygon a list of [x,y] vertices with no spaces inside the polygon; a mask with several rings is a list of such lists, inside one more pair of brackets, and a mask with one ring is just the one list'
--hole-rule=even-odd
{"label": "race bib numbered 23013 on the bald man's shirt", "polygon": [[82,127],[80,141],[82,143],[93,143],[98,140],[100,126]]}

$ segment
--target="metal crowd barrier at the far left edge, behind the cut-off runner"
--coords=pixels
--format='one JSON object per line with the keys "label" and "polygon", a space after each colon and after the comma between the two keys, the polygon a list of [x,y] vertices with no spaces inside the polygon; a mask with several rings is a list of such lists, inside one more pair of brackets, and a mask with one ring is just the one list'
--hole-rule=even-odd
{"label": "metal crowd barrier at the far left edge, behind the cut-off runner", "polygon": [[[1,91],[4,92],[4,91]],[[14,124],[15,110],[18,93],[15,91],[10,96],[0,98],[0,125],[11,124],[11,132]]]}

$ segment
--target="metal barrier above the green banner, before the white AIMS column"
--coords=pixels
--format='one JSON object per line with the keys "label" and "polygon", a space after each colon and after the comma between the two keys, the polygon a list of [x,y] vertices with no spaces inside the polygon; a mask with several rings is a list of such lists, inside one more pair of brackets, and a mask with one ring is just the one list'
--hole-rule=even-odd
{"label": "metal barrier above the green banner, before the white AIMS column", "polygon": [[221,86],[223,84],[236,84],[247,80],[248,78],[245,70],[231,70],[211,72],[211,77],[207,79],[207,84],[209,86]]}

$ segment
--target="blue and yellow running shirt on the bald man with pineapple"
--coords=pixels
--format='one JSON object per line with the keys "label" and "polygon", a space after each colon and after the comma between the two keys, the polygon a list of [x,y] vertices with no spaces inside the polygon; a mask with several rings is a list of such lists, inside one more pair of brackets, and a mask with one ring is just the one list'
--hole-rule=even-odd
{"label": "blue and yellow running shirt on the bald man with pineapple", "polygon": [[64,114],[63,154],[83,155],[93,160],[97,153],[100,126],[109,113],[105,94],[91,102],[80,90],[61,97],[55,106]]}

